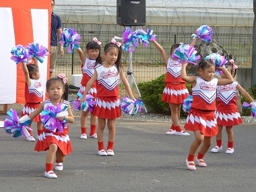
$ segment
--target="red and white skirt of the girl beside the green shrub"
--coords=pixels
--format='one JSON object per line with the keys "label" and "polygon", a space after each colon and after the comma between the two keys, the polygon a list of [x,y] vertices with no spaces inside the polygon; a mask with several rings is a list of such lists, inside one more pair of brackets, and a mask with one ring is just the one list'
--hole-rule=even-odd
{"label": "red and white skirt of the girl beside the green shrub", "polygon": [[162,93],[162,101],[168,103],[182,104],[187,98],[189,91],[185,84],[166,83],[164,92]]}

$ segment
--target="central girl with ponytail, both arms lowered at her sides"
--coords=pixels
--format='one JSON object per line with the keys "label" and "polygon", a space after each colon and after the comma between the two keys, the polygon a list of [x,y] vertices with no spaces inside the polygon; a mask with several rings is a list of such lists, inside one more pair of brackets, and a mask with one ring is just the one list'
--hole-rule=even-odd
{"label": "central girl with ponytail, both arms lowered at her sides", "polygon": [[[89,80],[81,98],[81,102],[85,100],[90,88],[97,80],[97,96],[93,115],[98,117],[98,155],[113,156],[115,141],[115,119],[121,117],[121,106],[119,100],[119,81],[123,82],[129,98],[135,100],[131,92],[131,88],[121,65],[121,43],[116,42],[115,38],[104,46],[104,64],[95,67],[94,75]],[[104,127],[108,125],[108,146],[107,152],[104,150],[103,132]]]}

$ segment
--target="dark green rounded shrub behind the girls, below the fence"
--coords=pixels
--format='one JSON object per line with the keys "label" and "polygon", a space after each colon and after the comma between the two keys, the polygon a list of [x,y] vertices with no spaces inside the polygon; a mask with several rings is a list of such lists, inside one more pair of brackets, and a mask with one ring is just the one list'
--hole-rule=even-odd
{"label": "dark green rounded shrub behind the girls, below the fence", "polygon": [[[141,98],[150,111],[170,115],[169,104],[162,102],[162,92],[164,91],[165,87],[164,78],[165,74],[152,80],[151,82],[139,83],[138,87],[141,92]],[[187,88],[190,92],[190,84],[187,84]],[[181,117],[187,117],[187,113],[185,113],[182,109]]]}

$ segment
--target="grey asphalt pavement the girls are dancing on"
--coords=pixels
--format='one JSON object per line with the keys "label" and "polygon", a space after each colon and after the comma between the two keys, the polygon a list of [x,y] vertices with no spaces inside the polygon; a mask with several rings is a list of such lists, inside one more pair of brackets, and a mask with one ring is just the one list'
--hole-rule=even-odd
{"label": "grey asphalt pavement the girls are dancing on", "polygon": [[[21,106],[13,105],[21,112]],[[5,115],[0,115],[3,119]],[[0,191],[256,191],[256,127],[234,127],[234,154],[207,152],[207,167],[187,170],[191,136],[165,135],[170,123],[117,119],[115,156],[98,156],[97,139],[79,139],[79,117],[70,125],[73,152],[57,179],[44,177],[46,152],[35,142],[0,129]],[[36,135],[36,124],[33,123]],[[108,131],[104,131],[107,143]],[[215,146],[215,140],[211,148]]]}

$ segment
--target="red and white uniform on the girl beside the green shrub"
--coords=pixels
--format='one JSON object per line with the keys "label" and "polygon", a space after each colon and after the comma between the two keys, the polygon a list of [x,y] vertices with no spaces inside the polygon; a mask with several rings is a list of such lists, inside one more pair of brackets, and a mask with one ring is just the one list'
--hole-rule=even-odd
{"label": "red and white uniform on the girl beside the green shrub", "polygon": [[162,101],[181,104],[189,95],[185,82],[181,79],[181,66],[182,64],[179,61],[168,59],[166,77],[164,79],[166,87],[162,94]]}

